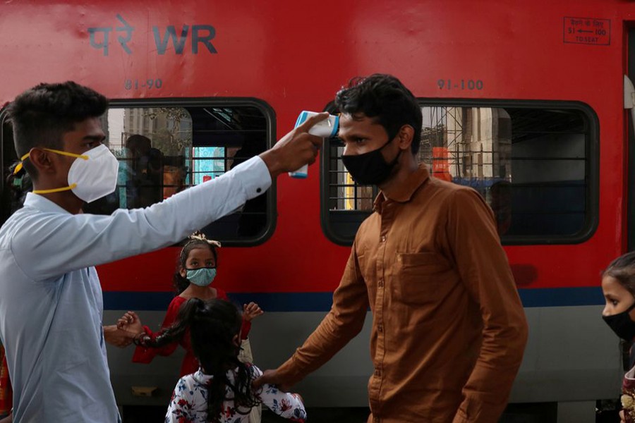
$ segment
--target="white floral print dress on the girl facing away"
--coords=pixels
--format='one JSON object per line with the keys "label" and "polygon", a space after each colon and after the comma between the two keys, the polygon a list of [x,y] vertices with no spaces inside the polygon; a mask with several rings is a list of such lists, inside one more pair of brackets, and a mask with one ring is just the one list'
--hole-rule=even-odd
{"label": "white floral print dress on the girl facing away", "polygon": [[[262,371],[253,364],[248,364],[251,379],[262,375]],[[165,423],[207,423],[207,384],[213,376],[204,374],[199,368],[196,373],[179,379],[174,388],[172,399],[165,415]],[[227,372],[227,378],[234,382],[234,371]],[[279,391],[274,385],[265,384],[260,393],[256,393],[262,404],[281,417],[293,422],[303,423],[306,410],[300,396],[296,393]],[[229,386],[225,388],[225,397],[234,398]],[[222,423],[245,423],[249,419],[249,410],[236,411],[233,400],[223,403]]]}

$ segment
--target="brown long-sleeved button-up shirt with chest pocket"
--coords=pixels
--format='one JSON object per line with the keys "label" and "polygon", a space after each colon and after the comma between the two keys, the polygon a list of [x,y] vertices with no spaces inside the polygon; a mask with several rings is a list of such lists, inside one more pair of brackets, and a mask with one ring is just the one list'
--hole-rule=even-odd
{"label": "brown long-sleeved button-up shirt with chest pocket", "polygon": [[356,235],[329,314],[279,367],[291,383],[327,362],[373,311],[369,422],[496,422],[527,324],[492,210],[425,166]]}

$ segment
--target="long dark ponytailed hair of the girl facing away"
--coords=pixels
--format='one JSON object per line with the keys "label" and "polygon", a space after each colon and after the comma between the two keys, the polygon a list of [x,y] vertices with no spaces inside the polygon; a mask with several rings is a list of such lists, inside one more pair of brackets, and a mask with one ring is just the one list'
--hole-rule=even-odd
{"label": "long dark ponytailed hair of the girl facing away", "polygon": [[[207,385],[207,422],[220,421],[224,400],[233,400],[236,412],[245,415],[260,404],[251,390],[247,365],[238,361],[240,346],[236,345],[235,339],[241,324],[241,313],[231,302],[191,298],[179,309],[176,322],[146,343],[159,348],[181,339],[189,329],[195,357],[203,372],[213,376]],[[227,377],[228,370],[235,372],[233,384]],[[233,391],[234,398],[226,398],[226,386]]]}

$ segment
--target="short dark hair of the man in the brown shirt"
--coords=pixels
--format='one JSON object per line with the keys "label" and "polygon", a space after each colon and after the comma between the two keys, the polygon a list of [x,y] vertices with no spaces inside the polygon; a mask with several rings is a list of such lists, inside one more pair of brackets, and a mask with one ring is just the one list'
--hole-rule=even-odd
{"label": "short dark hair of the man in the brown shirt", "polygon": [[375,73],[367,78],[353,78],[348,87],[335,94],[335,106],[340,113],[364,114],[384,127],[389,140],[403,125],[414,128],[412,153],[417,154],[421,143],[423,116],[421,106],[412,92],[392,75]]}

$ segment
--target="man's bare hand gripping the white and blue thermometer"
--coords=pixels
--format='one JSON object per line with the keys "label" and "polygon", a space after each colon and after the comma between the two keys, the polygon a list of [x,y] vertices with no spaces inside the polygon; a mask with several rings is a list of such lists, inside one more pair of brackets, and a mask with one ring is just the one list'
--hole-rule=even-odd
{"label": "man's bare hand gripping the white and blue thermometer", "polygon": [[310,135],[308,130],[315,123],[324,121],[328,116],[327,112],[311,116],[298,128],[294,128],[290,133],[280,138],[272,149],[260,154],[260,159],[269,168],[272,179],[280,173],[297,171],[305,164],[312,164],[315,161],[323,139]]}

